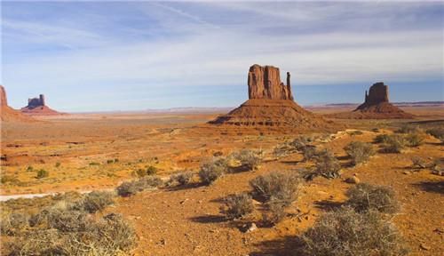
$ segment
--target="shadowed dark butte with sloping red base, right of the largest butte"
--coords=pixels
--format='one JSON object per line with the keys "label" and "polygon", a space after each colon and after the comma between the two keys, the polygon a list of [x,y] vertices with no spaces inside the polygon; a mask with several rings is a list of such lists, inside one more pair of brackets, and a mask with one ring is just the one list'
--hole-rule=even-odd
{"label": "shadowed dark butte with sloping red base, right of the largest butte", "polygon": [[350,119],[410,119],[414,116],[389,102],[388,85],[378,82],[365,92],[364,103],[353,112],[329,115],[336,118]]}

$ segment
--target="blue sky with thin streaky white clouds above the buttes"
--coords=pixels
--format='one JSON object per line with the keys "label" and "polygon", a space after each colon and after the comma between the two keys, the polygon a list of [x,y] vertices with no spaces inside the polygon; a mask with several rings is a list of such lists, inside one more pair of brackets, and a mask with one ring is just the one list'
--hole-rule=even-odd
{"label": "blue sky with thin streaky white clouds above the buttes", "polygon": [[252,64],[291,73],[301,105],[444,100],[442,2],[1,2],[12,108],[236,107]]}

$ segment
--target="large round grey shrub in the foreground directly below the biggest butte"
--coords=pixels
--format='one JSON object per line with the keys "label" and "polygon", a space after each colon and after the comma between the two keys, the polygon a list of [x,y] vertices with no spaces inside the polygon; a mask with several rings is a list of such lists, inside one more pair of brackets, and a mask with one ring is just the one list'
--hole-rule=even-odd
{"label": "large round grey shrub in the foreground directly below the biggest butte", "polygon": [[250,180],[253,193],[263,201],[289,205],[297,199],[300,180],[293,173],[270,172]]}

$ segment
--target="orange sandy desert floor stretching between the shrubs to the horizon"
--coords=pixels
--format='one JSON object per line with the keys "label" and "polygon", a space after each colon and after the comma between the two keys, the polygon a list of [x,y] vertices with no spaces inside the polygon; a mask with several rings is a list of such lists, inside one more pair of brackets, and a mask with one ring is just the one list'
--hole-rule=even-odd
{"label": "orange sandy desert floor stretching between the shrubs to the horizon", "polygon": [[[429,161],[443,157],[440,141],[429,136],[419,147],[401,154],[377,153],[369,163],[357,167],[349,166],[343,149],[353,140],[372,142],[377,134],[390,133],[403,123],[444,125],[442,108],[404,109],[417,115],[416,119],[334,120],[346,128],[322,134],[327,139],[317,146],[333,150],[343,164],[342,177],[318,177],[306,183],[285,220],[251,233],[238,228],[242,223],[224,219],[219,210],[222,198],[250,191],[249,180],[260,174],[297,172],[311,163],[302,162],[298,153],[282,158],[271,154],[274,147],[297,134],[212,129],[204,123],[217,116],[214,113],[45,116],[36,123],[4,123],[2,177],[11,181],[2,183],[1,195],[113,189],[124,180],[135,179],[134,172],[148,165],[167,179],[178,170],[197,172],[199,164],[212,156],[226,156],[241,148],[262,149],[266,158],[256,171],[226,174],[208,187],[196,178],[186,187],[119,197],[106,212],[122,212],[134,223],[139,236],[137,255],[288,255],[295,236],[313,225],[322,212],[344,202],[345,190],[354,186],[344,180],[356,175],[363,182],[395,190],[402,210],[393,221],[412,255],[442,255],[444,177],[427,169],[414,172],[411,167],[412,156]],[[348,109],[311,110],[326,114]],[[380,131],[372,132],[373,128]],[[49,177],[36,179],[40,169],[48,171]]]}

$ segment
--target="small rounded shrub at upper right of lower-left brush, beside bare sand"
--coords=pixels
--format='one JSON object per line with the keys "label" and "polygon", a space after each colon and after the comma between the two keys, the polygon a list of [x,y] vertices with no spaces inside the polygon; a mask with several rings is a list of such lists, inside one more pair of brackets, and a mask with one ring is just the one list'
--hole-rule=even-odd
{"label": "small rounded shrub at upper right of lower-left brush, beside bare sand", "polygon": [[102,211],[108,205],[114,204],[114,194],[107,191],[92,191],[75,204],[75,208],[94,213]]}

